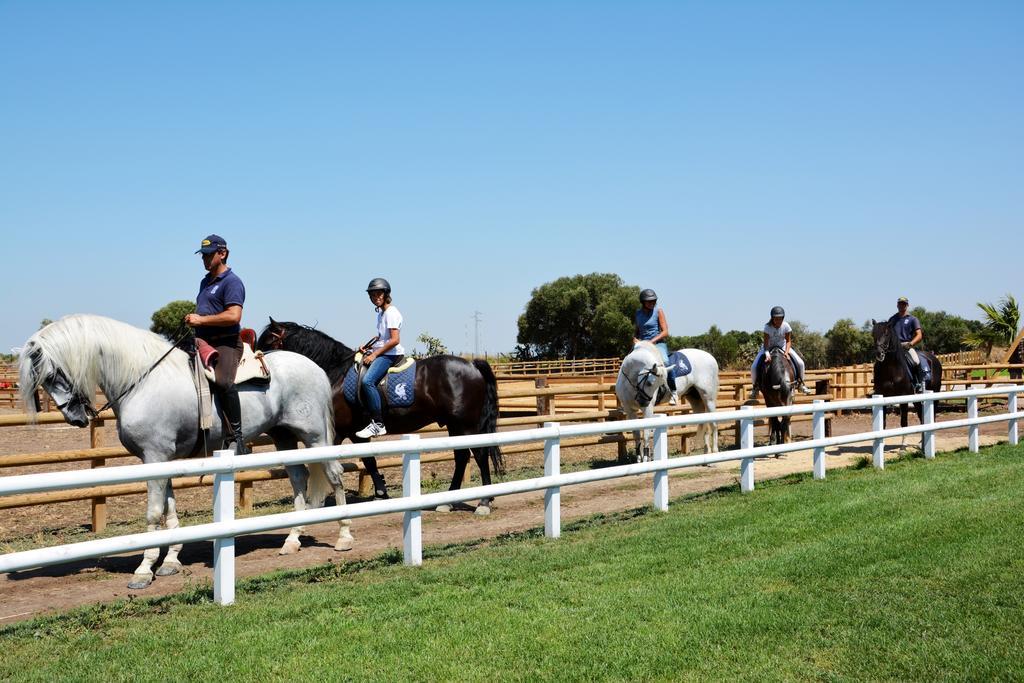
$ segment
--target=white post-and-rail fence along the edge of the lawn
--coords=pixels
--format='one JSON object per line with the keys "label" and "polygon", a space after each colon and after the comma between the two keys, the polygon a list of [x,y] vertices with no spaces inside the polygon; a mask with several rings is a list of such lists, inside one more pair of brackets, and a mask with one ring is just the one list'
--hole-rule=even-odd
{"label": "white post-and-rail fence along the edge of the lawn", "polygon": [[[1008,422],[1009,441],[1016,445],[1018,442],[1018,421],[1024,419],[1024,415],[1019,416],[1017,412],[1017,395],[1022,391],[1024,391],[1024,386],[1002,386],[934,394],[928,392],[923,396],[895,396],[889,398],[874,396],[867,399],[829,402],[816,400],[810,405],[791,405],[787,408],[754,410],[745,407],[739,411],[723,411],[711,414],[675,417],[663,415],[650,420],[627,420],[564,426],[555,422],[549,422],[545,423],[539,429],[508,431],[497,434],[476,434],[429,439],[420,439],[419,436],[413,434],[407,435],[397,441],[345,444],[301,451],[281,451],[276,453],[249,455],[242,458],[236,458],[230,451],[218,451],[213,458],[200,460],[0,477],[0,496],[12,496],[15,494],[33,494],[176,476],[215,475],[214,521],[212,523],[144,533],[132,533],[112,539],[97,539],[83,543],[0,555],[0,572],[19,571],[158,546],[212,540],[214,542],[214,599],[220,604],[230,604],[234,600],[234,538],[245,533],[337,521],[342,518],[355,519],[402,512],[404,513],[402,522],[404,562],[406,564],[419,565],[423,561],[421,510],[424,509],[433,509],[442,504],[463,503],[478,498],[543,490],[545,492],[545,533],[550,538],[558,538],[561,528],[561,486],[654,473],[653,505],[657,510],[664,511],[669,508],[669,470],[684,467],[738,460],[740,462],[740,488],[743,492],[751,492],[754,489],[755,459],[764,456],[797,451],[812,451],[814,478],[823,479],[825,477],[825,449],[847,443],[871,441],[872,462],[874,467],[880,469],[885,466],[883,449],[884,439],[887,437],[922,434],[922,449],[925,457],[934,458],[934,433],[939,429],[967,427],[969,447],[972,452],[977,452],[980,425]],[[1008,397],[1007,412],[998,415],[978,417],[978,398],[981,396],[998,395],[1006,395]],[[967,400],[968,417],[961,420],[935,422],[935,402],[952,399]],[[882,415],[886,405],[922,400],[925,403],[925,420],[923,424],[903,428],[882,429]],[[824,416],[826,413],[863,409],[870,409],[872,411],[871,431],[825,437]],[[813,436],[810,440],[754,446],[754,424],[756,420],[808,413],[813,416]],[[734,421],[739,421],[740,423],[741,446],[739,450],[669,458],[668,429],[670,427]],[[607,467],[599,470],[587,470],[567,474],[560,473],[559,442],[561,438],[627,432],[634,429],[654,430],[654,457],[652,461]],[[437,494],[420,494],[420,455],[424,452],[506,445],[541,440],[545,442],[544,476],[542,477],[506,481],[487,486],[474,486]],[[334,459],[399,454],[403,458],[403,496],[400,499],[372,501],[340,507],[304,510],[302,512],[286,512],[247,519],[234,519],[232,501],[234,472]]]}

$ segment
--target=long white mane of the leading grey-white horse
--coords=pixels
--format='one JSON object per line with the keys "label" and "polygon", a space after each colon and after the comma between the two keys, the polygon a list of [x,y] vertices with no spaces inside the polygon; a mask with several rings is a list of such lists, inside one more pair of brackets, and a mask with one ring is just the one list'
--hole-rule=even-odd
{"label": "long white mane of the leading grey-white horse", "polygon": [[[32,335],[22,350],[18,374],[26,410],[35,413],[33,396],[43,378],[56,368],[76,392],[91,397],[101,388],[114,397],[142,377],[170,347],[159,335],[102,315],[61,317]],[[154,373],[175,371],[187,371],[183,352],[170,354]]]}

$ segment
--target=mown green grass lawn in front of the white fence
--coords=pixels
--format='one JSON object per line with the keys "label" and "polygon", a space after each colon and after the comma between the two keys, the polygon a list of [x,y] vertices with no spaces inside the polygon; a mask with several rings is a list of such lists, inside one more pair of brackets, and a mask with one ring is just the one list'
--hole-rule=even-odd
{"label": "mown green grass lawn in front of the white fence", "polygon": [[1024,447],[0,631],[0,679],[1019,679]]}

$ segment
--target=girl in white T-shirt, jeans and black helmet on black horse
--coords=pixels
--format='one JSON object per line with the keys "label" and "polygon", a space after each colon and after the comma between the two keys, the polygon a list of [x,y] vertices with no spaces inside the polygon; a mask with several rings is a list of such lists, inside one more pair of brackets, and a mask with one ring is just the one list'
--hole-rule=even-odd
{"label": "girl in white T-shirt, jeans and black helmet on black horse", "polygon": [[377,310],[377,339],[359,348],[362,352],[362,365],[370,366],[360,382],[362,404],[370,413],[370,424],[366,429],[355,432],[359,438],[383,436],[387,433],[377,383],[392,366],[401,361],[406,353],[399,339],[401,313],[391,305],[391,285],[383,278],[374,278],[367,286],[367,294]]}

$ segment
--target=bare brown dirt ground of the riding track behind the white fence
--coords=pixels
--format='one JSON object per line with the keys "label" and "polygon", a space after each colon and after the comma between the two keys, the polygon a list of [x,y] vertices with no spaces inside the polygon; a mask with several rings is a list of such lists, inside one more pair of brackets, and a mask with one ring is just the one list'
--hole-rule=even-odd
{"label": "bare brown dirt ground of the riding track behind the white fence", "polygon": [[[939,421],[963,417],[963,414],[943,413]],[[892,418],[890,418],[892,420]],[[911,418],[911,424],[915,420]],[[891,424],[891,422],[890,422]],[[852,415],[837,418],[833,422],[834,434],[849,434],[868,431],[870,417]],[[764,438],[758,432],[758,439]],[[117,435],[113,427],[106,427],[103,434],[104,445],[116,445]],[[796,438],[809,438],[810,424],[794,425]],[[983,445],[1006,440],[1006,426],[985,425],[981,429]],[[722,446],[731,444],[732,434],[726,434]],[[887,457],[898,455],[900,439],[887,442]],[[88,430],[66,425],[39,425],[0,429],[0,455],[36,453],[43,451],[63,451],[87,447]],[[914,437],[908,444],[920,442]],[[936,449],[939,452],[952,451],[967,445],[964,429],[939,432]],[[680,446],[679,438],[671,440],[670,450]],[[563,466],[570,463],[586,463],[592,467],[613,464],[616,446],[614,444],[563,449]],[[870,444],[853,444],[827,452],[827,467],[846,467],[859,458],[870,456]],[[542,464],[540,454],[521,454],[508,457],[510,470],[534,467]],[[134,459],[110,460],[108,464],[130,464]],[[76,469],[87,467],[86,463],[71,463],[63,466],[46,465],[38,467],[5,468],[0,475],[27,474],[35,471]],[[474,466],[475,468],[475,466]],[[811,453],[799,452],[779,459],[759,460],[755,467],[756,480],[784,476],[794,472],[810,471]],[[400,488],[400,473],[396,469],[386,470],[392,490]],[[439,479],[447,482],[452,465],[440,463],[424,466],[424,479]],[[349,475],[346,475],[349,476]],[[597,513],[611,513],[647,505],[651,501],[652,475],[595,482],[563,487],[561,492],[562,520],[585,518]],[[738,463],[722,463],[710,467],[687,468],[673,472],[670,476],[671,497],[712,490],[738,482]],[[346,487],[350,489],[349,502],[354,498],[355,475],[350,475]],[[443,486],[446,487],[446,486]],[[291,494],[287,480],[257,482],[255,486],[257,512],[262,503],[284,502]],[[177,493],[178,509],[186,515],[189,511],[209,511],[212,507],[210,487],[189,488]],[[142,530],[141,516],[144,508],[143,496],[124,496],[108,499],[109,520],[112,525],[121,525],[124,531]],[[76,541],[87,540],[90,535],[82,535],[89,523],[89,503],[77,501],[48,506],[0,510],[0,552],[9,552],[12,544],[19,547],[31,540],[33,545],[54,545],[62,542],[62,537],[74,536]],[[184,516],[183,515],[183,516]],[[188,524],[187,518],[183,524]],[[523,530],[544,524],[543,493],[522,494],[499,499],[489,516],[474,515],[471,509],[452,513],[425,512],[423,515],[423,542],[425,546],[442,545],[494,538],[501,533]],[[282,557],[278,550],[287,531],[267,532],[242,537],[236,542],[237,573],[250,577],[283,568],[298,568],[328,562],[348,562],[379,555],[388,549],[401,548],[401,515],[392,514],[369,519],[357,519],[352,523],[355,548],[345,553],[333,548],[337,538],[336,523],[308,526],[303,538],[303,549],[297,555]],[[71,607],[108,602],[129,595],[150,597],[178,592],[198,583],[208,583],[213,578],[212,544],[187,544],[180,559],[184,570],[174,577],[158,578],[144,591],[129,591],[128,581],[141,559],[141,553],[105,557],[99,560],[75,562],[44,569],[22,571],[0,575],[0,626],[29,618],[46,612],[59,611]]]}

